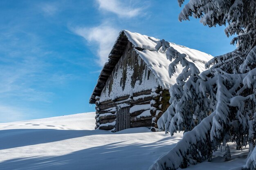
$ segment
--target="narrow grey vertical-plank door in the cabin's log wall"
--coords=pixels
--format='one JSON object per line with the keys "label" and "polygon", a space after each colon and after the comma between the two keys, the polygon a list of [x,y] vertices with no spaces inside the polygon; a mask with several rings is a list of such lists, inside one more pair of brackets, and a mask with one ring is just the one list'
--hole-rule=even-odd
{"label": "narrow grey vertical-plank door in the cabin's log wall", "polygon": [[130,106],[117,106],[116,132],[130,128]]}

